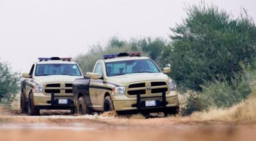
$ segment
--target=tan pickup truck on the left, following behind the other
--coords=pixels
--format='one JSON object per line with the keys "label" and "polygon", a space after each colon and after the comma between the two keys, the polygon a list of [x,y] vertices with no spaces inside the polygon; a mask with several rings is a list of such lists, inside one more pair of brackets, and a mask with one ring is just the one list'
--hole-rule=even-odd
{"label": "tan pickup truck on the left, following behind the other", "polygon": [[71,58],[38,58],[20,83],[20,113],[39,115],[40,109],[71,110],[74,113],[72,82],[83,78]]}

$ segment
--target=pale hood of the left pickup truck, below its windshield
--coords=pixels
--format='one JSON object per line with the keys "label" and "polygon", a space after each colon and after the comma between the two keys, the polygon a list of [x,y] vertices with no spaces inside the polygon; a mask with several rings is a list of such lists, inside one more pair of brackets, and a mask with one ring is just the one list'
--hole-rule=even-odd
{"label": "pale hood of the left pickup truck, below its windshield", "polygon": [[51,82],[73,82],[76,78],[83,78],[83,76],[69,76],[69,75],[49,75],[34,77],[33,80],[38,85],[44,85]]}

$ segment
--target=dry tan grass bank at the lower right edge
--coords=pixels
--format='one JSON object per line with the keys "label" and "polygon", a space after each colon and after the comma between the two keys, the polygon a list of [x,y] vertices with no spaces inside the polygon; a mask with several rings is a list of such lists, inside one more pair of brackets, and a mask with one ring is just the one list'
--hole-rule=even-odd
{"label": "dry tan grass bank at the lower right edge", "polygon": [[251,96],[247,100],[230,108],[212,108],[208,112],[195,112],[191,117],[202,121],[223,122],[256,122],[256,97]]}

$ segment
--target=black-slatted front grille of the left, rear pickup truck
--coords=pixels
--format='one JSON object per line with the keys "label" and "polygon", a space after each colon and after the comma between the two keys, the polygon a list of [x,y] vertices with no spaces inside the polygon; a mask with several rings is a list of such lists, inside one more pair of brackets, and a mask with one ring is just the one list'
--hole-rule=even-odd
{"label": "black-slatted front grille of the left, rear pickup truck", "polygon": [[46,94],[72,94],[72,83],[54,83],[46,84],[44,87],[44,93]]}

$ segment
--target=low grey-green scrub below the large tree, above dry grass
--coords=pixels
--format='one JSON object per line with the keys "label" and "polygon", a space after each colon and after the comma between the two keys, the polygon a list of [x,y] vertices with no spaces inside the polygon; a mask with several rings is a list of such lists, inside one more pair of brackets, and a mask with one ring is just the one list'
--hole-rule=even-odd
{"label": "low grey-green scrub below the large tree, above dry grass", "polygon": [[236,73],[232,80],[225,78],[214,79],[201,85],[199,93],[186,93],[186,104],[182,115],[210,108],[226,108],[240,103],[255,89],[256,71],[247,67],[243,73]]}

